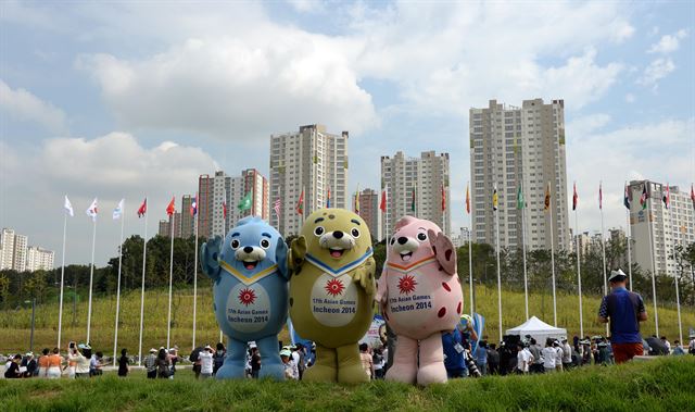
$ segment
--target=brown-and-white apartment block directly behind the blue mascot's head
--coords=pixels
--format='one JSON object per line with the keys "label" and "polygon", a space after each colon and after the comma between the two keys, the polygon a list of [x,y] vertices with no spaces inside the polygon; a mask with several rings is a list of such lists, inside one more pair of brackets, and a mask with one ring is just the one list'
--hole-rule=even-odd
{"label": "brown-and-white apartment block directly behind the blue mascot's head", "polygon": [[[268,220],[268,179],[255,168],[241,172],[240,176],[227,176],[215,172],[214,176],[201,175],[198,185],[198,235],[224,236],[230,227],[245,216]],[[249,195],[250,209],[240,210],[239,203]],[[223,203],[227,207],[225,216]]]}

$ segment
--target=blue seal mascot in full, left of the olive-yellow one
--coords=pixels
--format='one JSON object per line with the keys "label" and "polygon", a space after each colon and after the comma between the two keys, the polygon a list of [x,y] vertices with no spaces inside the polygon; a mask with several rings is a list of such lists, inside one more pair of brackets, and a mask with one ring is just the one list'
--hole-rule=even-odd
{"label": "blue seal mascot in full, left of the olive-yellow one", "polygon": [[260,217],[244,217],[223,239],[203,245],[203,272],[214,280],[214,310],[229,338],[228,355],[217,378],[243,378],[247,342],[261,352],[260,376],[285,378],[278,333],[287,322],[288,247]]}

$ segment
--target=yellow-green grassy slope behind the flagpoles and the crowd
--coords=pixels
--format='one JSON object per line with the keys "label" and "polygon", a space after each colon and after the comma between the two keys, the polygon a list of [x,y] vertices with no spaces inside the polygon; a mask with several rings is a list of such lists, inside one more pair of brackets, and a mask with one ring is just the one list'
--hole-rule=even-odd
{"label": "yellow-green grassy slope behind the flagpoles and the crowd", "polygon": [[[468,311],[468,290],[464,286],[465,310]],[[166,289],[150,290],[146,294],[143,352],[149,348],[159,348],[166,344]],[[86,299],[85,299],[86,300]],[[68,340],[84,341],[86,338],[87,302],[77,303],[76,324],[72,325],[73,303],[65,301],[63,308],[63,346]],[[491,340],[497,339],[497,290],[484,286],[476,287],[477,312],[486,320],[485,335]],[[503,328],[510,328],[525,321],[523,294],[503,290]],[[598,297],[583,299],[584,334],[605,334],[605,325],[595,322],[598,310]],[[644,335],[654,333],[654,315],[650,302],[645,302],[648,321],[643,323]],[[98,298],[93,302],[91,341],[97,350],[112,354],[115,322],[115,296]],[[184,352],[192,346],[192,289],[175,290],[173,299],[173,329],[172,346],[178,345]],[[558,295],[557,309],[558,326],[566,327],[568,335],[579,335],[579,304],[577,296]],[[529,298],[529,311],[548,324],[553,324],[553,298],[551,294],[533,294]],[[0,353],[10,351],[26,351],[29,345],[30,309],[0,311]],[[214,344],[219,339],[219,330],[212,310],[212,289],[207,284],[199,289],[198,297],[198,344]],[[140,294],[132,291],[122,297],[121,327],[118,329],[118,347],[128,348],[130,354],[137,354],[140,322]],[[688,327],[695,327],[695,312],[693,308],[682,310],[683,334],[687,335]],[[58,304],[39,305],[36,311],[36,332],[34,350],[55,346],[58,333]],[[678,339],[677,312],[672,307],[659,308],[659,333],[673,341]],[[280,335],[281,340],[289,340],[287,332]]]}

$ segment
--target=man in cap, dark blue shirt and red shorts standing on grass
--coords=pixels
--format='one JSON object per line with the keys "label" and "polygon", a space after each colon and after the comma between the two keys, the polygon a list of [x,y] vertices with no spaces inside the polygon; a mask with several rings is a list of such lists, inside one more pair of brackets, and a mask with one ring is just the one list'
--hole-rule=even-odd
{"label": "man in cap, dark blue shirt and red shorts standing on grass", "polygon": [[643,353],[640,322],[647,320],[647,311],[642,297],[626,288],[627,279],[621,270],[610,271],[611,292],[603,298],[598,309],[598,322],[610,322],[610,345],[616,363]]}

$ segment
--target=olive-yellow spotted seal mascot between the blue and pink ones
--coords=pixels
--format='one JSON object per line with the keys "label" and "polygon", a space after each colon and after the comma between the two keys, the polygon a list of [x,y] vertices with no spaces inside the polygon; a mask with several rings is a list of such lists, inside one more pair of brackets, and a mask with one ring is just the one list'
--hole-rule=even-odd
{"label": "olive-yellow spotted seal mascot between the blue and pink ones", "polygon": [[312,213],[292,241],[288,263],[292,324],[316,342],[316,363],[303,379],[368,382],[357,347],[375,308],[376,265],[365,221],[343,209]]}

